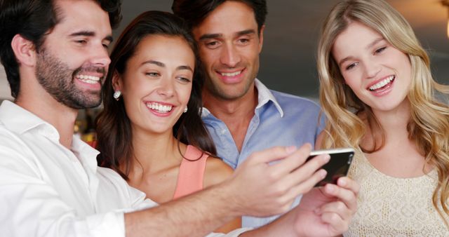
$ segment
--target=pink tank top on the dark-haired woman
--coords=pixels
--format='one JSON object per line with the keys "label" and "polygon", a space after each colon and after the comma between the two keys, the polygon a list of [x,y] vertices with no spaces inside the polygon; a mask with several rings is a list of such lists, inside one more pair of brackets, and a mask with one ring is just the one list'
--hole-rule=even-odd
{"label": "pink tank top on the dark-haired woman", "polygon": [[[204,153],[201,155],[201,153],[196,147],[191,145],[187,146],[184,156],[194,161],[187,161],[185,158],[182,159],[173,199],[193,194],[203,189],[204,170],[206,170],[208,154]],[[199,158],[200,156],[201,158]]]}

